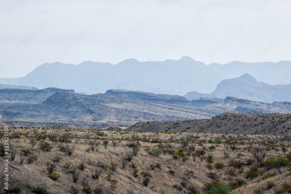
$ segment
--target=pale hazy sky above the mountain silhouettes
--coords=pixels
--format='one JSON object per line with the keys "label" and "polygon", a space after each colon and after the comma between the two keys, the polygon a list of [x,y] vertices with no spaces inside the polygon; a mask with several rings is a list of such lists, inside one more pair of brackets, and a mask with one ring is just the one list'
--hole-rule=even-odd
{"label": "pale hazy sky above the mountain silhouettes", "polygon": [[291,60],[290,0],[1,0],[0,8],[1,78],[53,60],[226,64],[260,52],[259,62]]}

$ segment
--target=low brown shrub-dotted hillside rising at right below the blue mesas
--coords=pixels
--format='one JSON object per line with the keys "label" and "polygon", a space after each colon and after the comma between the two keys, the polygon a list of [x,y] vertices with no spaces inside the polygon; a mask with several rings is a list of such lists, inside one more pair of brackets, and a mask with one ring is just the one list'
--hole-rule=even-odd
{"label": "low brown shrub-dotted hillside rising at right below the blue mesas", "polygon": [[291,135],[291,114],[223,113],[205,120],[137,122],[126,130]]}

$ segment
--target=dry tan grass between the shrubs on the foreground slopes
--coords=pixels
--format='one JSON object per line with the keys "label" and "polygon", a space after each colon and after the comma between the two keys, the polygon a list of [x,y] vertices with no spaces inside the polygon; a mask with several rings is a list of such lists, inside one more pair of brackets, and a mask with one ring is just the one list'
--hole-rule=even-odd
{"label": "dry tan grass between the shrubs on the foreground slopes", "polygon": [[[26,130],[24,133],[32,133],[33,130]],[[56,131],[54,129],[47,129],[48,132],[50,131]],[[75,131],[72,133],[76,133],[79,136],[89,133],[93,134],[96,131]],[[60,133],[60,132],[59,132]],[[86,179],[88,181],[88,185],[91,186],[92,189],[95,189],[97,185],[103,186],[103,192],[104,193],[127,193],[127,190],[132,187],[134,188],[135,193],[139,193],[139,190],[141,186],[143,185],[143,175],[139,175],[138,177],[134,177],[133,171],[134,168],[132,167],[131,163],[128,162],[125,169],[121,169],[121,153],[125,152],[125,149],[128,148],[126,145],[129,143],[128,140],[130,140],[131,136],[136,134],[139,135],[140,138],[147,138],[150,140],[158,139],[158,140],[165,140],[171,138],[174,140],[171,145],[174,147],[174,151],[178,151],[179,149],[184,149],[182,147],[182,143],[177,144],[177,141],[179,140],[182,142],[185,140],[186,136],[199,136],[199,140],[205,139],[208,140],[214,140],[215,138],[219,137],[221,140],[225,140],[228,138],[228,135],[222,135],[222,134],[196,134],[196,133],[153,133],[153,132],[145,132],[145,133],[139,133],[139,132],[131,132],[131,134],[122,134],[120,135],[118,131],[105,131],[105,133],[108,136],[113,136],[114,138],[119,138],[118,140],[118,146],[116,149],[112,146],[111,141],[109,141],[107,149],[104,148],[103,145],[99,145],[95,151],[92,151],[90,146],[85,143],[84,139],[80,139],[78,144],[76,145],[76,150],[72,153],[71,156],[68,156],[67,153],[62,152],[58,145],[65,146],[65,143],[59,143],[59,142],[51,142],[48,139],[45,140],[49,145],[53,147],[53,149],[49,152],[43,151],[39,148],[38,145],[34,147],[34,149],[31,149],[31,145],[29,144],[29,140],[25,136],[22,136],[19,141],[19,150],[22,149],[30,149],[32,152],[34,152],[36,155],[38,155],[37,161],[35,161],[32,164],[27,164],[26,161],[22,165],[20,165],[19,160],[19,154],[16,156],[15,161],[10,161],[10,165],[17,168],[18,170],[14,168],[10,168],[10,175],[11,181],[16,181],[15,185],[19,185],[22,188],[22,191],[25,191],[26,193],[31,193],[31,190],[25,187],[26,181],[29,183],[37,186],[39,184],[45,184],[48,191],[52,193],[70,193],[69,188],[71,185],[78,186],[79,188],[82,188],[82,179]],[[248,141],[261,141],[261,138],[268,139],[270,138],[272,140],[273,137],[271,136],[255,136],[255,135],[245,135],[245,136],[237,136],[237,135],[231,135],[234,140],[243,137],[246,138],[246,142]],[[106,137],[100,137],[99,138],[106,138]],[[276,139],[276,138],[275,138]],[[157,163],[161,164],[161,168],[155,168],[154,170],[150,170],[150,173],[152,177],[150,178],[149,185],[147,187],[143,187],[143,193],[178,193],[179,191],[176,188],[173,188],[174,184],[178,184],[182,181],[185,181],[188,183],[188,185],[193,184],[195,187],[198,188],[201,192],[205,192],[205,186],[204,183],[207,181],[210,181],[211,179],[207,177],[207,172],[215,172],[218,176],[221,182],[228,183],[229,181],[234,181],[237,178],[245,179],[244,172],[246,170],[249,170],[248,165],[243,165],[244,172],[243,173],[236,173],[235,176],[229,176],[226,173],[227,167],[229,167],[229,161],[230,159],[240,160],[244,161],[246,163],[246,160],[249,159],[251,156],[251,153],[248,152],[248,150],[244,150],[243,148],[236,150],[231,150],[230,146],[226,146],[225,144],[214,144],[215,149],[213,150],[207,150],[205,156],[207,154],[213,154],[213,162],[212,165],[218,162],[222,162],[226,167],[223,169],[215,169],[209,170],[205,167],[207,164],[207,161],[204,160],[203,162],[200,161],[199,157],[197,157],[196,161],[194,162],[191,158],[186,161],[182,162],[181,159],[174,159],[171,155],[168,153],[161,154],[159,157],[152,156],[148,154],[148,150],[157,149],[159,147],[159,143],[151,143],[151,142],[143,142],[139,141],[141,144],[141,149],[138,152],[137,156],[135,156],[132,159],[132,163],[136,165],[136,169],[139,171],[138,174],[143,172],[145,170],[146,166],[149,165],[155,165]],[[280,142],[277,142],[279,144]],[[207,146],[212,145],[212,143],[208,143]],[[288,141],[287,145],[290,146],[290,140]],[[246,147],[247,145],[239,145],[236,144],[237,147]],[[280,148],[280,147],[279,147]],[[86,151],[87,149],[87,151]],[[145,150],[146,149],[146,150]],[[186,148],[187,149],[187,148]],[[196,145],[196,150],[202,150],[201,145]],[[227,152],[229,153],[229,158],[225,158],[223,154],[223,149],[227,149]],[[288,148],[290,149],[290,148]],[[242,153],[244,156],[237,157],[237,153]],[[267,152],[266,158],[277,156],[282,156],[283,153],[281,151],[281,148],[278,152],[274,151],[274,149],[271,149],[270,152]],[[60,178],[56,181],[49,178],[49,175],[46,170],[46,163],[48,161],[51,161],[54,156],[61,156],[62,159],[58,162],[56,162],[56,170],[55,172],[60,174]],[[77,181],[76,184],[73,183],[71,171],[73,167],[78,166],[80,164],[80,160],[82,156],[86,157],[85,162],[85,168],[81,171],[80,178]],[[92,177],[92,171],[94,169],[93,161],[97,158],[104,159],[104,166],[105,169],[101,173],[100,177],[98,179],[94,179]],[[90,162],[91,161],[91,162]],[[110,166],[111,162],[119,164],[117,170],[115,173],[111,175],[111,178],[109,179],[107,177],[107,174],[110,173],[109,168],[106,168],[106,166]],[[0,165],[1,170],[3,170],[3,164]],[[263,170],[264,167],[261,167],[260,169]],[[282,175],[277,175],[275,177],[271,177],[269,179],[262,180],[258,183],[257,179],[259,179],[261,176],[258,176],[257,178],[253,180],[246,180],[246,185],[239,187],[235,189],[232,193],[251,193],[254,188],[261,188],[264,191],[272,192],[271,190],[267,190],[266,187],[266,181],[267,180],[273,180],[276,184],[274,187],[279,187],[279,183],[283,183],[285,181],[290,181],[290,176],[286,170],[283,169]],[[169,170],[173,170],[175,173],[171,174]],[[194,172],[193,174],[189,174],[189,172]],[[187,175],[186,175],[187,174]],[[111,180],[117,180],[118,183],[115,184],[116,188],[114,188],[111,185],[114,185]],[[1,191],[0,191],[1,192]],[[182,188],[182,191],[180,192],[188,192],[187,187]]]}

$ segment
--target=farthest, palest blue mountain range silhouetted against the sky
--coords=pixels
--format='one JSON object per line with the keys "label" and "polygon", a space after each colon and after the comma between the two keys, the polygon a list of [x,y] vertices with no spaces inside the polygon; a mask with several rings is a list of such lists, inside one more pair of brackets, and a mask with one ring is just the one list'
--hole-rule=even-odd
{"label": "farthest, palest blue mountain range silhouetted against the sky", "polygon": [[[39,89],[50,87],[72,89],[89,95],[104,93],[110,88],[169,95],[185,95],[191,91],[210,94],[215,90],[213,95],[219,95],[220,91],[216,91],[217,83],[245,73],[254,76],[259,83],[288,85],[291,83],[288,74],[290,70],[291,61],[253,64],[233,61],[225,65],[217,63],[205,65],[203,62],[183,56],[180,60],[162,62],[139,62],[135,59],[127,59],[116,65],[93,61],[85,61],[79,65],[45,63],[24,77],[0,78],[0,83],[26,85]],[[265,92],[268,91],[269,89]],[[277,91],[276,86],[275,91]],[[278,91],[278,94],[280,92]],[[262,95],[265,93],[263,92]],[[262,95],[254,97],[265,99]],[[242,93],[242,96],[252,95]],[[221,96],[224,97],[225,94]]]}

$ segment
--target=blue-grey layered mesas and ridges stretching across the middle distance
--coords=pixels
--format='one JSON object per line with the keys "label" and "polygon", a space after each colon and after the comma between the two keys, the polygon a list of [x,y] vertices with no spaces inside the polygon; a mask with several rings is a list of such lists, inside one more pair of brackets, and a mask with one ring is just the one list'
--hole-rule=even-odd
{"label": "blue-grey layered mesas and ridges stretching across the middle distance", "polygon": [[178,95],[108,90],[81,95],[74,90],[0,89],[0,125],[129,127],[138,121],[207,119],[224,112],[289,113],[291,103],[263,103],[236,97],[187,100]]}

